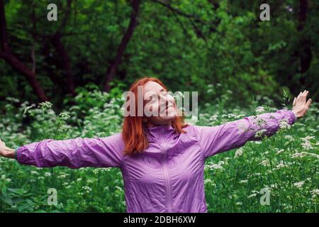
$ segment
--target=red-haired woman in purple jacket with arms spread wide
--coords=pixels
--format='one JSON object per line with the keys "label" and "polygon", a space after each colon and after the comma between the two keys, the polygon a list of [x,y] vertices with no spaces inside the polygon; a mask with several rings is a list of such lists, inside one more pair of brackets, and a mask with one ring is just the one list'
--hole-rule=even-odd
{"label": "red-haired woman in purple jacket with arms spread wide", "polygon": [[[294,99],[292,110],[245,117],[221,126],[194,126],[184,124],[177,115],[174,98],[159,79],[139,79],[130,92],[138,95],[139,86],[146,100],[143,106],[158,109],[158,113],[165,111],[168,116],[136,116],[135,108],[134,116],[125,116],[121,133],[105,138],[46,139],[16,150],[1,142],[0,155],[37,167],[119,167],[127,212],[207,212],[203,184],[206,158],[255,140],[257,131],[274,134],[280,121],[293,124],[311,104],[311,99],[306,101],[308,91],[304,91]],[[160,101],[149,99],[152,93]],[[159,108],[162,102],[168,108]],[[137,106],[137,101],[133,104]]]}

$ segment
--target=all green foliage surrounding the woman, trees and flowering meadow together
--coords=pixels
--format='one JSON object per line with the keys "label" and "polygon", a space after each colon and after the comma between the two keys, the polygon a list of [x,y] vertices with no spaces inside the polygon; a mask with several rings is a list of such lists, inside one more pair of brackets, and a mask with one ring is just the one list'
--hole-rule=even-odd
{"label": "all green foliage surrounding the woman, trees and flowering meadow together", "polygon": [[[7,145],[16,148],[45,138],[91,138],[120,131],[121,94],[143,76],[158,77],[172,92],[198,91],[203,125],[287,107],[307,89],[313,108],[305,120],[262,143],[247,143],[236,158],[230,151],[208,160],[206,199],[211,212],[318,210],[318,1],[308,1],[302,30],[300,1],[267,1],[270,21],[259,21],[260,1],[169,1],[182,13],[141,1],[138,24],[108,93],[101,88],[130,23],[130,1],[73,1],[67,15],[67,1],[53,2],[58,6],[56,22],[46,19],[47,1],[6,1],[12,52],[31,69],[34,50],[36,76],[50,99],[35,104],[38,97],[30,82],[0,60],[0,138]],[[64,60],[50,40],[57,31],[69,56],[74,97],[67,94]],[[302,56],[310,57],[305,72]],[[307,136],[315,136],[308,141],[313,149],[306,150],[301,138]],[[118,170],[45,170],[3,158],[0,163],[0,211],[125,209]],[[275,170],[276,166],[283,167]],[[303,182],[301,188],[293,186],[298,182]],[[57,206],[47,205],[48,187],[59,192]],[[266,187],[274,194],[270,206],[261,206],[257,198]]]}

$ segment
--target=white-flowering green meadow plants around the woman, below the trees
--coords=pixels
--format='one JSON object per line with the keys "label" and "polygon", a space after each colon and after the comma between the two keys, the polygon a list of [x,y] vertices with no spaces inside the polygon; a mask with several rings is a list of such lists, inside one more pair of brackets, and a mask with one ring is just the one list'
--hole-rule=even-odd
{"label": "white-flowering green meadow plants around the woman, below the trees", "polygon": [[[221,85],[208,86],[215,94]],[[60,114],[52,104],[6,99],[0,119],[0,138],[11,148],[44,138],[103,137],[121,131],[123,100],[87,86],[74,106]],[[90,90],[91,89],[91,90]],[[256,96],[247,109],[228,109],[232,92],[215,103],[199,106],[198,125],[218,126],[245,116],[274,112],[274,101]],[[92,103],[104,100],[103,105]],[[98,107],[99,106],[99,107]],[[85,111],[83,111],[85,110]],[[82,117],[79,117],[83,114]],[[205,191],[209,212],[315,212],[318,210],[319,106],[313,103],[306,118],[282,127],[271,138],[206,160]],[[28,123],[22,124],[23,121]],[[193,119],[187,119],[191,122]],[[38,168],[0,158],[1,212],[125,212],[125,196],[118,168]],[[58,192],[58,204],[48,205],[47,189]],[[261,205],[261,190],[270,191],[270,204]]]}

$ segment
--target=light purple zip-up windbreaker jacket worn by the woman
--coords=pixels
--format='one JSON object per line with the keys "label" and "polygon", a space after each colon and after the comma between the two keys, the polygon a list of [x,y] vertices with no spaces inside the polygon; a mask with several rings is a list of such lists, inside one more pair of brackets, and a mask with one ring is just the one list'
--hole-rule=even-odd
{"label": "light purple zip-up windbreaker jacket worn by the woman", "polygon": [[279,121],[296,121],[293,111],[279,110],[221,126],[194,126],[175,133],[172,126],[148,128],[149,148],[123,156],[121,133],[105,138],[46,139],[16,148],[17,160],[37,167],[119,167],[127,212],[207,212],[204,163],[217,153],[238,148],[254,134],[279,129]]}

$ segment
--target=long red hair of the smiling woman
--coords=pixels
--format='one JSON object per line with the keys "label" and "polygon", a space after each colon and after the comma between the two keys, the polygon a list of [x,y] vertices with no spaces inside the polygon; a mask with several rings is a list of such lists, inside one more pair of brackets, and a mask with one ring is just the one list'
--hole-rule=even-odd
{"label": "long red hair of the smiling woman", "polygon": [[[167,87],[155,77],[142,77],[141,79],[137,79],[130,86],[130,92],[133,92],[135,97],[138,97],[138,86],[144,86],[147,82],[156,82],[169,92]],[[128,101],[128,99],[126,101]],[[146,126],[142,122],[145,116],[144,113],[143,116],[138,116],[137,111],[138,99],[135,99],[135,116],[125,116],[123,121],[122,135],[125,143],[124,155],[130,155],[134,152],[142,153],[143,150],[148,148],[148,140],[145,135]],[[172,128],[174,128],[177,133],[186,133],[182,129],[186,126],[184,116],[176,116],[174,120],[172,120]]]}

